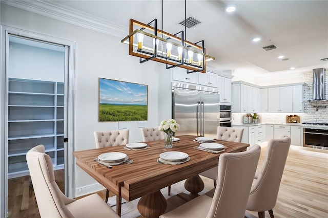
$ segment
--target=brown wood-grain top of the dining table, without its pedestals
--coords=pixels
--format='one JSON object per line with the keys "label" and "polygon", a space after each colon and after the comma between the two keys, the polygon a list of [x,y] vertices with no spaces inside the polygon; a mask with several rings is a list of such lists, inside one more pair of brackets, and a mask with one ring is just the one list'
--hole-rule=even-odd
{"label": "brown wood-grain top of the dining table, without its pedestals", "polygon": [[[146,142],[150,148],[144,150],[126,150],[124,145],[120,145],[75,151],[73,155],[76,164],[97,182],[115,195],[132,201],[217,166],[220,154],[244,151],[250,146],[245,143],[216,140],[215,143],[224,145],[226,151],[212,154],[194,149],[199,145],[197,141],[193,141],[195,138],[196,136],[179,136],[180,140],[173,142],[173,148],[165,148],[164,140],[158,140]],[[159,155],[166,151],[185,152],[190,161],[176,165],[158,163]],[[108,168],[94,161],[106,152],[123,152],[133,159],[133,163]]]}

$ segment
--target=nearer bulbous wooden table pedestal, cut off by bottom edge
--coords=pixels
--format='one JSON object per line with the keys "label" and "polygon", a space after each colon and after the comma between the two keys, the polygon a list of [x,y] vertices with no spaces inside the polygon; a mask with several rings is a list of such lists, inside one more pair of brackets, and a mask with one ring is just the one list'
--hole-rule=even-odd
{"label": "nearer bulbous wooden table pedestal, cut off by bottom edge", "polygon": [[167,206],[166,199],[158,190],[141,197],[138,202],[138,211],[147,218],[153,218],[163,214]]}

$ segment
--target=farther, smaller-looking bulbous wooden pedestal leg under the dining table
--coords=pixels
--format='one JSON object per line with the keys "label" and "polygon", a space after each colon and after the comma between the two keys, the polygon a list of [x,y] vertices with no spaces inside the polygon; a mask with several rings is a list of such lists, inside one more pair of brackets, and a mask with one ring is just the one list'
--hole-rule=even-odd
{"label": "farther, smaller-looking bulbous wooden pedestal leg under the dining table", "polygon": [[199,196],[198,192],[201,192],[204,187],[204,182],[198,175],[196,175],[188,178],[185,182],[185,188],[190,192],[190,194],[179,193],[177,195],[185,201],[191,201],[192,199]]}

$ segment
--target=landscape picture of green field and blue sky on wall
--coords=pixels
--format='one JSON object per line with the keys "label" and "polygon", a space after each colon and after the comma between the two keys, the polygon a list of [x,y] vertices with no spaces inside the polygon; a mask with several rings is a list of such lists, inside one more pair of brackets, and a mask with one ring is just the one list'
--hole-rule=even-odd
{"label": "landscape picture of green field and blue sky on wall", "polygon": [[99,78],[99,122],[148,120],[148,86]]}

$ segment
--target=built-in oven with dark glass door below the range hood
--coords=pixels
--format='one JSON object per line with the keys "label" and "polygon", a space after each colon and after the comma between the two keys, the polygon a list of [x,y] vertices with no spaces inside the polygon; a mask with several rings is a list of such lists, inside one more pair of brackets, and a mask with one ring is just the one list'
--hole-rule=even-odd
{"label": "built-in oven with dark glass door below the range hood", "polygon": [[328,129],[303,128],[303,146],[328,150]]}

